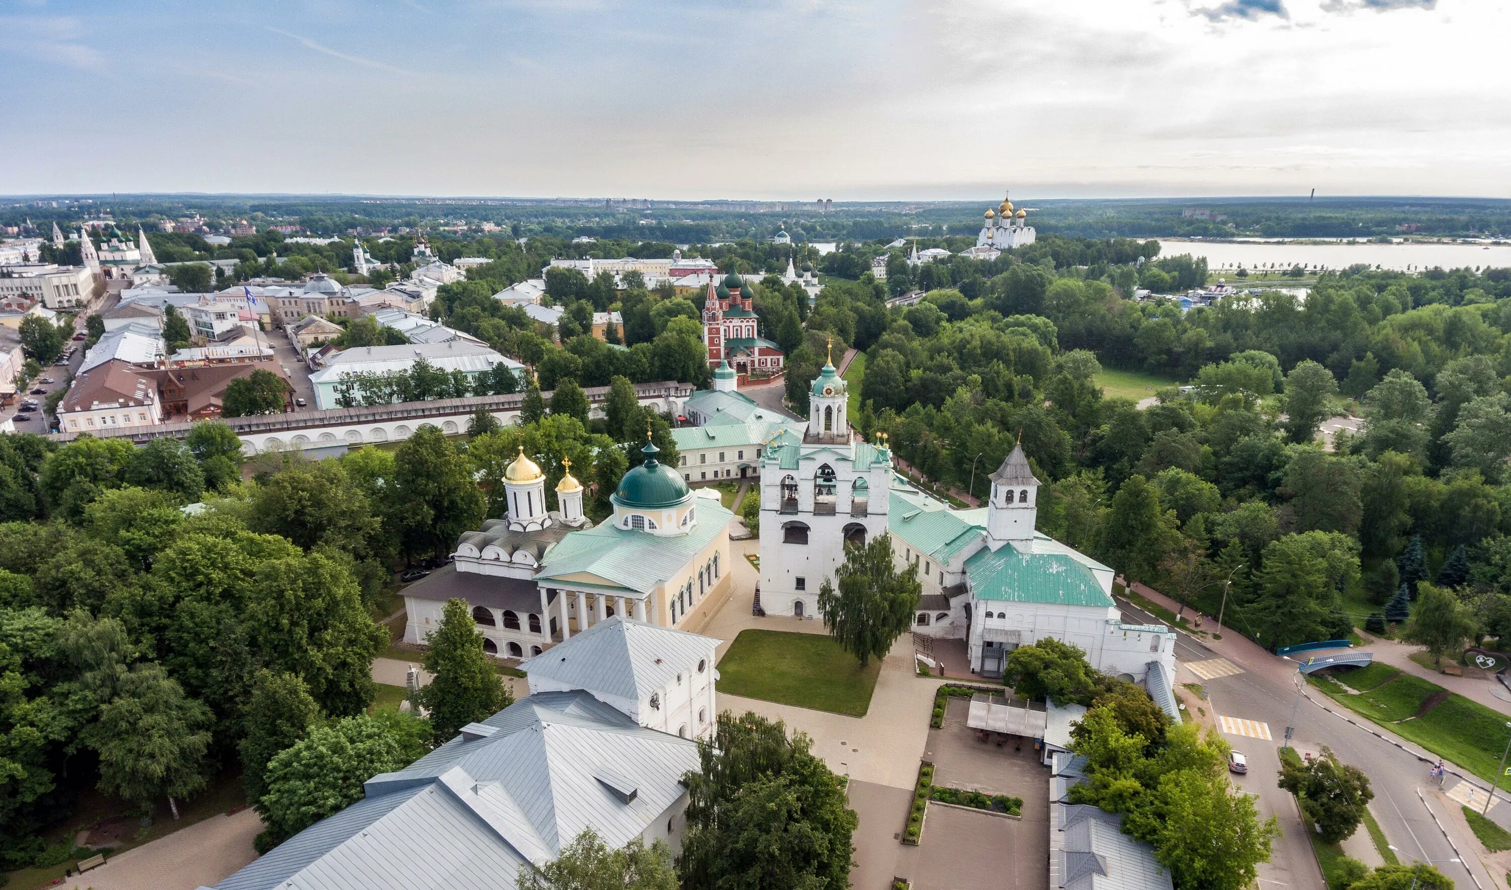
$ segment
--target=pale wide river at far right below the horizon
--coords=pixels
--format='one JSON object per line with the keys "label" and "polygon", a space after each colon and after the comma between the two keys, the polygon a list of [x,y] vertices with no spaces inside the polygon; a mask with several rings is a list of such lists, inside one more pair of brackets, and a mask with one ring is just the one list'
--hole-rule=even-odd
{"label": "pale wide river at far right below the horizon", "polygon": [[1355,263],[1420,272],[1432,266],[1443,269],[1499,266],[1511,267],[1511,245],[1315,245],[1293,242],[1188,242],[1160,240],[1160,257],[1206,257],[1207,267],[1221,269],[1346,269]]}

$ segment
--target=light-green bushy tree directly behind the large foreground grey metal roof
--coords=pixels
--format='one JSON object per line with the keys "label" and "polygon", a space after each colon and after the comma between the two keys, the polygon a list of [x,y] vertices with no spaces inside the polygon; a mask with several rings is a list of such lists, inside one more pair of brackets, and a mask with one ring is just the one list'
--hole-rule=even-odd
{"label": "light-green bushy tree directly behind the large foreground grey metal roof", "polygon": [[397,710],[332,721],[267,762],[267,790],[257,802],[267,851],[363,798],[363,783],[425,754],[431,728]]}

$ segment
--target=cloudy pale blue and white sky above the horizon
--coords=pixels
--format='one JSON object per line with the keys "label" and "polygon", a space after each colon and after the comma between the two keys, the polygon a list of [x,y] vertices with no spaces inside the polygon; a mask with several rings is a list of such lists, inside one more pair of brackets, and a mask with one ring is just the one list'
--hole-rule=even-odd
{"label": "cloudy pale blue and white sky above the horizon", "polygon": [[0,193],[1511,196],[1511,0],[0,0]]}

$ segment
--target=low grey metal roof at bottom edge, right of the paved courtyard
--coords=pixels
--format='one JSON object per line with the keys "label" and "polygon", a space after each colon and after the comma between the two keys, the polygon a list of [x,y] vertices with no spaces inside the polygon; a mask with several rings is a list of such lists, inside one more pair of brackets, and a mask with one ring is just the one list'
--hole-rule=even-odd
{"label": "low grey metal roof at bottom edge, right of the paved courtyard", "polygon": [[1098,807],[1059,808],[1059,885],[1065,890],[1174,890],[1150,845],[1121,830],[1123,817]]}

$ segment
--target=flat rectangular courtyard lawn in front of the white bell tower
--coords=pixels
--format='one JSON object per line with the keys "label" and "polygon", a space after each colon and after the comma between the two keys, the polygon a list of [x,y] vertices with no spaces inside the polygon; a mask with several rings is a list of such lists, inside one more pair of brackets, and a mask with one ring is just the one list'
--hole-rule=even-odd
{"label": "flat rectangular courtyard lawn in front of the white bell tower", "polygon": [[718,691],[728,695],[866,716],[881,659],[866,668],[819,633],[742,630],[719,662]]}

